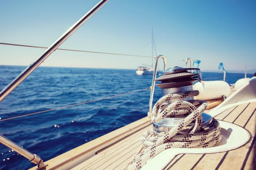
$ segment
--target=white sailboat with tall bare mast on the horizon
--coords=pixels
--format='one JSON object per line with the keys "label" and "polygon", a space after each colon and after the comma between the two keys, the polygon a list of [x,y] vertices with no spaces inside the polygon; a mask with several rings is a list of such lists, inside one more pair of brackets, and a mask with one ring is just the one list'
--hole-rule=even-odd
{"label": "white sailboat with tall bare mast on the horizon", "polygon": [[[140,66],[137,68],[136,74],[137,75],[153,75],[154,73],[154,68],[153,68],[153,60],[154,60],[154,48],[155,48],[155,53],[157,53],[156,51],[156,46],[155,46],[155,42],[154,42],[154,35],[153,35],[153,28],[152,28],[152,64],[151,65],[146,65],[148,67],[145,66]],[[157,56],[157,54],[156,54]],[[145,64],[143,64],[145,65]],[[158,74],[158,71],[157,71]]]}

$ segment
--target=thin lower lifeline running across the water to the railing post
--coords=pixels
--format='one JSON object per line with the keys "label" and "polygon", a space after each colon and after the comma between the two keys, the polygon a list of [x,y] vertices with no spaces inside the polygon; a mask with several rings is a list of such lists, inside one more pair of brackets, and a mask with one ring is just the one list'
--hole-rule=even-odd
{"label": "thin lower lifeline running across the water to the railing post", "polygon": [[87,101],[87,102],[76,103],[76,104],[73,104],[73,105],[62,106],[62,107],[59,107],[59,108],[49,109],[49,110],[46,110],[46,111],[39,111],[39,112],[35,112],[35,113],[29,113],[29,114],[26,114],[26,115],[15,116],[15,117],[7,118],[7,119],[2,119],[2,120],[0,120],[0,122],[6,121],[6,120],[11,120],[11,119],[17,119],[17,118],[25,117],[25,116],[31,116],[31,115],[35,115],[35,114],[39,114],[39,113],[55,111],[55,110],[58,110],[58,109],[69,108],[69,107],[72,107],[72,106],[82,105],[82,104],[85,104],[85,103],[91,103],[91,102],[96,102],[96,101],[100,101],[100,100],[110,99],[110,98],[113,98],[113,97],[123,96],[123,95],[126,95],[126,94],[132,94],[132,93],[136,93],[136,92],[139,92],[139,91],[145,91],[145,90],[148,90],[148,89],[150,89],[150,88],[145,88],[145,89],[141,89],[141,90],[137,90],[137,91],[131,91],[131,92],[124,93],[124,94],[117,94],[115,96],[104,97],[104,98],[101,98],[101,99],[91,100],[91,101]]}

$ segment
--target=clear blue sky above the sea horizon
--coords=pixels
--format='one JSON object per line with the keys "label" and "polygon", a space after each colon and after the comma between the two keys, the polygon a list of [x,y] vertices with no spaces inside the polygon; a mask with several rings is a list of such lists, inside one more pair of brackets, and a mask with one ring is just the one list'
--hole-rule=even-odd
{"label": "clear blue sky above the sea horizon", "polygon": [[[99,0],[0,1],[0,42],[49,46]],[[151,56],[151,27],[157,54],[168,67],[200,59],[202,70],[256,68],[254,0],[110,0],[60,48]],[[29,65],[44,49],[0,45],[0,65]],[[55,51],[42,65],[127,68],[150,58]],[[160,64],[160,67],[163,67]]]}

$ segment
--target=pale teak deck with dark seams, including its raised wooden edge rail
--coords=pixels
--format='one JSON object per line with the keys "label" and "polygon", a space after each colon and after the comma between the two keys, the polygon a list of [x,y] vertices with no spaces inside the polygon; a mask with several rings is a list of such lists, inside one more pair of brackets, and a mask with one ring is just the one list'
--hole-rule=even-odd
{"label": "pale teak deck with dark seams, including its raised wooden edge rail", "polygon": [[[231,88],[230,95],[234,91]],[[210,107],[205,112],[209,113],[221,102],[208,101]],[[163,169],[255,170],[256,102],[229,108],[215,118],[245,128],[251,133],[250,140],[238,149],[222,153],[179,154]],[[50,159],[46,162],[49,164],[46,170],[120,170],[140,148],[142,133],[151,128],[151,120],[145,117]]]}

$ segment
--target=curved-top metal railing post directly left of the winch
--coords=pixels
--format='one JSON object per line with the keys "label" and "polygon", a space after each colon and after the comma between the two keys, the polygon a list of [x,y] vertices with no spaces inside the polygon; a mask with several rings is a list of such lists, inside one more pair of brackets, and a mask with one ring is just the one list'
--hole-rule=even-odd
{"label": "curved-top metal railing post directly left of the winch", "polygon": [[166,70],[166,57],[159,55],[154,57],[157,61],[156,61],[156,65],[155,65],[155,69],[154,69],[154,74],[153,74],[153,78],[152,78],[152,85],[151,85],[151,93],[150,93],[150,99],[149,99],[149,110],[148,110],[148,117],[151,118],[151,113],[152,113],[152,104],[153,104],[153,98],[154,98],[154,88],[155,88],[155,79],[157,77],[157,62],[159,58],[163,59],[163,71]]}

